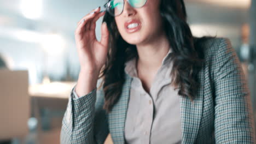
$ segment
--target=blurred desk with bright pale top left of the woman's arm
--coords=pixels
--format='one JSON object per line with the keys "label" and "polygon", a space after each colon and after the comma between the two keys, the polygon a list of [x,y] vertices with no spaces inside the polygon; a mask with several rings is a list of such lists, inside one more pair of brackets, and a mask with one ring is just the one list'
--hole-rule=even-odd
{"label": "blurred desk with bright pale top left of the woman's arm", "polygon": [[[32,116],[38,120],[38,132],[50,127],[51,113],[63,113],[76,82],[50,82],[29,87]],[[43,111],[43,112],[42,112]],[[46,125],[46,126],[45,126]]]}

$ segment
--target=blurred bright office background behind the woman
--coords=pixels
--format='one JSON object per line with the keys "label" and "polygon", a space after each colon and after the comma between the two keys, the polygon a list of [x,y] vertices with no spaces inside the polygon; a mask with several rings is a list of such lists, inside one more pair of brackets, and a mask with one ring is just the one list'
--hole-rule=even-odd
{"label": "blurred bright office background behind the woman", "polygon": [[[0,119],[7,113],[11,119],[0,121],[2,143],[8,140],[60,143],[63,113],[80,67],[74,31],[84,15],[105,2],[0,0],[0,55],[5,61],[0,71]],[[255,0],[185,0],[185,3],[194,35],[231,40],[254,104],[255,64],[250,46],[256,41]],[[101,22],[102,18],[96,26],[98,39]]]}

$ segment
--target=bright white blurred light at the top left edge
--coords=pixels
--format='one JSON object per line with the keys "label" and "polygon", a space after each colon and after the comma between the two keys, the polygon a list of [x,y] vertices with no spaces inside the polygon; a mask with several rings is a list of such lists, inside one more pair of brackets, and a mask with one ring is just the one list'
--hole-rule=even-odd
{"label": "bright white blurred light at the top left edge", "polygon": [[43,0],[21,0],[21,13],[28,19],[38,19],[42,16]]}

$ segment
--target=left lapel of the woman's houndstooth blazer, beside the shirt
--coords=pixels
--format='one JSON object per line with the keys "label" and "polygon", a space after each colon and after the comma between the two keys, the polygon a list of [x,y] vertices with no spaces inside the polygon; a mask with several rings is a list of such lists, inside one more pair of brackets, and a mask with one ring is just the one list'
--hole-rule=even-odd
{"label": "left lapel of the woman's houndstooth blazer, beside the shirt", "polygon": [[109,113],[109,131],[114,143],[125,143],[124,127],[130,95],[131,77],[125,73],[125,82],[120,99]]}

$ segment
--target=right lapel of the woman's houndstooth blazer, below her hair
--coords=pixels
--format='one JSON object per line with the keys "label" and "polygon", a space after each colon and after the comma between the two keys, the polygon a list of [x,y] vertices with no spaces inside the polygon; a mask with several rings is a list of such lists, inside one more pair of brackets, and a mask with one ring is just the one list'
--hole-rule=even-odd
{"label": "right lapel of the woman's houndstooth blazer, below her hair", "polygon": [[204,70],[199,72],[199,90],[194,99],[194,103],[188,97],[180,97],[181,102],[181,122],[182,122],[182,143],[194,143],[199,130],[202,105],[203,105],[203,82]]}

